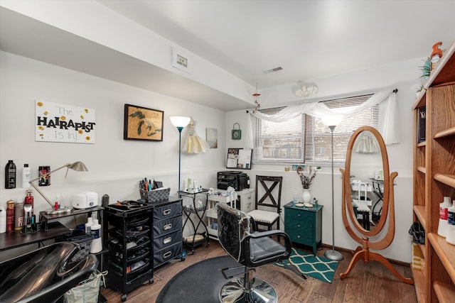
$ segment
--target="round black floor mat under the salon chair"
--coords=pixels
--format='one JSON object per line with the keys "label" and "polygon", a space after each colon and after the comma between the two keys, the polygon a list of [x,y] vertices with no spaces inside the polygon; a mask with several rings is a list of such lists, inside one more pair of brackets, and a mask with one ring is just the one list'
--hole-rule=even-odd
{"label": "round black floor mat under the salon chair", "polygon": [[185,268],[164,286],[156,299],[157,303],[198,302],[216,303],[220,288],[228,280],[221,270],[240,266],[232,257],[210,258]]}

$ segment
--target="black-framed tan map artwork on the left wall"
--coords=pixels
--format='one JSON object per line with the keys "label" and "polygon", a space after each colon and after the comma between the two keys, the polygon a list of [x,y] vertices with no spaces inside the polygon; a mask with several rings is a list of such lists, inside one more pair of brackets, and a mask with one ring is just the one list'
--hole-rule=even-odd
{"label": "black-framed tan map artwork on the left wall", "polygon": [[125,104],[124,140],[163,141],[164,111]]}

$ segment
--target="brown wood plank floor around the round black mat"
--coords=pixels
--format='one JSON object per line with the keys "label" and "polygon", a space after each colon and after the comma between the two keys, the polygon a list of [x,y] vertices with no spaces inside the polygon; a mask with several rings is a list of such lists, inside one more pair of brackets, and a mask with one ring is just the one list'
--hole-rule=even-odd
{"label": "brown wood plank floor around the round black mat", "polygon": [[[304,250],[304,249],[302,249]],[[318,250],[317,255],[323,256],[326,248]],[[309,250],[307,252],[310,253]],[[279,268],[275,265],[264,265],[257,268],[255,276],[261,277],[272,284],[277,290],[280,303],[301,302],[400,302],[417,303],[414,285],[407,285],[392,275],[382,264],[371,261],[365,265],[362,261],[357,263],[350,275],[341,280],[338,276],[348,268],[351,255],[343,253],[344,259],[336,268],[332,284],[308,277],[301,279],[290,270]],[[185,261],[172,260],[154,272],[154,283],[146,284],[127,295],[128,303],[155,302],[166,282],[177,272],[200,260],[225,255],[225,251],[218,242],[211,241],[210,246],[196,248],[194,255],[188,255]],[[405,277],[411,277],[409,266],[393,265]],[[196,290],[195,290],[196,291]],[[101,293],[109,303],[122,302],[121,294],[101,287]],[[182,298],[181,302],[186,302]],[[179,302],[176,302],[179,303]],[[193,302],[188,302],[193,303]],[[196,303],[196,302],[194,302]],[[214,302],[216,303],[216,302]]]}

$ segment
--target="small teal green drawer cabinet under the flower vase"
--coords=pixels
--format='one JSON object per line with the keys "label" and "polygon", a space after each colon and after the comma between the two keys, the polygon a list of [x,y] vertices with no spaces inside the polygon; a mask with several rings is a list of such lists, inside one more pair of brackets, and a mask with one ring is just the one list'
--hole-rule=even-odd
{"label": "small teal green drawer cabinet under the flower vase", "polygon": [[284,232],[291,242],[311,246],[314,255],[322,239],[322,208],[295,206],[293,202],[284,205]]}

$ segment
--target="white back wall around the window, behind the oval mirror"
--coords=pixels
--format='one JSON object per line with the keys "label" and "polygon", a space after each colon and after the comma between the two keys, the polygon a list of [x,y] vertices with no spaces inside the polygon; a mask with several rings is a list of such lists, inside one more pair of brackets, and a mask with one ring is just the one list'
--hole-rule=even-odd
{"label": "white back wall around the window, behind the oval mirror", "polygon": [[[395,179],[395,239],[392,245],[382,254],[386,258],[410,262],[411,260],[411,238],[407,231],[412,224],[412,144],[413,121],[412,106],[415,101],[415,87],[419,78],[420,59],[399,62],[395,65],[387,65],[372,70],[353,72],[346,75],[326,79],[316,79],[319,85],[319,94],[314,100],[333,99],[363,92],[375,92],[381,89],[397,88],[397,108],[400,117],[401,143],[387,146],[390,172],[398,172]],[[295,100],[292,94],[291,85],[282,85],[273,89],[260,92],[259,99],[261,109],[279,106],[280,104],[293,104],[301,102]],[[226,147],[246,148],[245,138],[247,137],[247,121],[249,115],[246,111],[231,111],[226,115]],[[230,130],[233,123],[240,123],[242,127],[242,140],[234,141],[230,138]],[[254,129],[254,126],[253,126]],[[254,151],[253,151],[254,152]],[[284,172],[284,167],[290,165],[252,165],[248,172],[252,184],[255,183],[255,175],[282,175],[283,192],[282,204],[292,200],[292,193],[303,189],[296,172]],[[334,173],[334,205],[335,205],[335,245],[342,248],[353,249],[358,243],[353,241],[343,226],[341,219],[341,174],[340,167],[335,167]],[[314,184],[311,186],[311,195],[319,199],[323,208],[323,231],[322,242],[332,244],[332,206],[331,206],[331,167],[323,167],[323,171],[316,175]],[[284,224],[283,224],[284,225]],[[372,239],[374,241],[374,238]]]}

